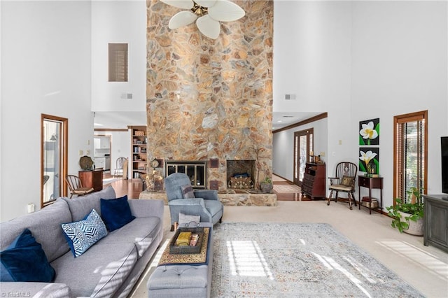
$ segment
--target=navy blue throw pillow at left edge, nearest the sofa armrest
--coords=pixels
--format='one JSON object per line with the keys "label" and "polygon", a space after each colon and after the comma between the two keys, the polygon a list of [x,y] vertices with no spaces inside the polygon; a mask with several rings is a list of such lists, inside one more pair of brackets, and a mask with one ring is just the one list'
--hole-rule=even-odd
{"label": "navy blue throw pillow at left edge, nearest the sofa armrest", "polygon": [[1,281],[34,281],[52,283],[56,272],[29,229],[0,252]]}

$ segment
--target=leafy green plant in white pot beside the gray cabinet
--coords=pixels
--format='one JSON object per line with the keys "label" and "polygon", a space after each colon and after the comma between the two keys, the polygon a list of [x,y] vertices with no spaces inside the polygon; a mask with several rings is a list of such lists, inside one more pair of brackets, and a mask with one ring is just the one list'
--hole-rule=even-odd
{"label": "leafy green plant in white pot beside the gray cabinet", "polygon": [[395,205],[386,207],[392,218],[392,227],[398,231],[416,236],[423,235],[423,199],[418,188],[411,187],[407,191],[408,201],[394,199]]}

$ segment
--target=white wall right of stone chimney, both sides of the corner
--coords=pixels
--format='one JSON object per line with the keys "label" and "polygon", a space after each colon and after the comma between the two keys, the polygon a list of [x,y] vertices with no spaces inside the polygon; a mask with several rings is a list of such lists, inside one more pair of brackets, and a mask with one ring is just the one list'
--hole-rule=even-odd
{"label": "white wall right of stone chimney, both sides of the corner", "polygon": [[[327,173],[342,160],[358,164],[359,121],[380,118],[383,206],[393,201],[394,115],[428,110],[427,192],[441,191],[440,136],[448,135],[447,5],[274,2],[274,112],[328,112]],[[297,99],[285,101],[285,93]],[[274,134],[274,172],[289,179],[292,169],[278,160],[288,133],[280,134]],[[287,163],[292,168],[292,160]]]}

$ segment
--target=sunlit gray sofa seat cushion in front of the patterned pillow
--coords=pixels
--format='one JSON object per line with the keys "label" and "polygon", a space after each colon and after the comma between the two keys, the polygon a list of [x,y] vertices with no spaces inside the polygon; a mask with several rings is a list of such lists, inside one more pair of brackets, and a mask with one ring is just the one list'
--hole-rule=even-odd
{"label": "sunlit gray sofa seat cushion in front of the patterned pillow", "polygon": [[55,283],[70,286],[72,297],[113,297],[137,262],[133,243],[102,244],[106,236],[83,255],[66,253],[51,263]]}

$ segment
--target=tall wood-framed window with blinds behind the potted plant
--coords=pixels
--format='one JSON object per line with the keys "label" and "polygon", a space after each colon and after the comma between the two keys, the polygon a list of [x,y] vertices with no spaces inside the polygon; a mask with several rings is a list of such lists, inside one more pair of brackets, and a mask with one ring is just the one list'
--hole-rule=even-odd
{"label": "tall wood-framed window with blinds behind the potted plant", "polygon": [[428,111],[398,115],[393,119],[393,194],[406,201],[411,187],[423,193],[427,186]]}

